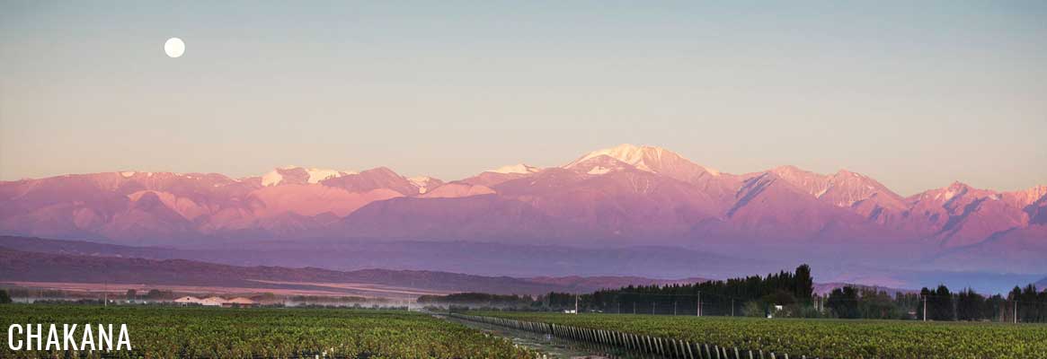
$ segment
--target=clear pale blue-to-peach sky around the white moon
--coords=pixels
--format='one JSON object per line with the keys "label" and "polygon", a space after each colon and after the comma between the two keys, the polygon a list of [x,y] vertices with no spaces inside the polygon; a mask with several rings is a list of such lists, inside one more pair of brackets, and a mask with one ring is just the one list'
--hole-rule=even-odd
{"label": "clear pale blue-to-peach sky around the white moon", "polygon": [[0,1],[0,180],[459,179],[627,142],[901,195],[1015,190],[1047,184],[1044,19],[1044,1]]}

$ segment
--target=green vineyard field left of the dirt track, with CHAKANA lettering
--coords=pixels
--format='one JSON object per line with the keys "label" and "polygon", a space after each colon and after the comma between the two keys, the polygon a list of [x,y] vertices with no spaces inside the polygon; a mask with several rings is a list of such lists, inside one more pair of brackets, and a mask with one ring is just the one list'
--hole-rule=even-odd
{"label": "green vineyard field left of the dirt track, with CHAKANA lettering", "polygon": [[[12,323],[127,323],[134,353],[114,352],[120,357],[534,357],[498,337],[393,311],[0,305],[5,333]],[[0,347],[0,358],[63,357],[54,354]]]}

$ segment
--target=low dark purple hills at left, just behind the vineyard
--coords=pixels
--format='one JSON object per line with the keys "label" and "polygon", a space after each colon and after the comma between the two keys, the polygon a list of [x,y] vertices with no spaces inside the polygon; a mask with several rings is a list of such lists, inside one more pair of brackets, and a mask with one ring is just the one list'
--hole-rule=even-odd
{"label": "low dark purple hills at left, just behind the vineyard", "polygon": [[0,287],[69,292],[146,292],[150,289],[191,294],[273,292],[403,299],[459,292],[585,293],[603,288],[708,281],[700,277],[509,277],[422,270],[247,267],[182,259],[161,260],[154,254],[121,246],[0,235]]}

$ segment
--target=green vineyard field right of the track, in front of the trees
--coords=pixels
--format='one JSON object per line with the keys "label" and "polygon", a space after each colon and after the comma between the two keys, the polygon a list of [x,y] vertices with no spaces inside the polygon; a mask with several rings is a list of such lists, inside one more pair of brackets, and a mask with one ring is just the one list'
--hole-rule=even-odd
{"label": "green vineyard field right of the track, in front of the trees", "polygon": [[822,358],[1047,358],[1047,324],[483,312]]}

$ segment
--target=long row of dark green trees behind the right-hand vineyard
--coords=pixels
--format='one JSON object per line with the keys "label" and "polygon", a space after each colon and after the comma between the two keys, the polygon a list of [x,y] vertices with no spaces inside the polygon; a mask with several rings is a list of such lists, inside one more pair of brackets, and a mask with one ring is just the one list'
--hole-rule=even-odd
{"label": "long row of dark green trees behind the right-hand vineyard", "polygon": [[[700,305],[699,305],[700,300]],[[766,276],[709,281],[688,285],[629,286],[592,294],[549,293],[537,297],[463,293],[420,301],[471,305],[505,310],[668,315],[744,315],[916,320],[1047,321],[1047,292],[1016,287],[1007,295],[985,296],[946,286],[889,293],[870,287],[842,287],[814,293],[810,267]],[[700,311],[700,312],[699,312]],[[925,313],[926,312],[926,313]]]}

